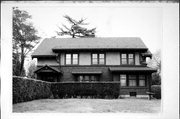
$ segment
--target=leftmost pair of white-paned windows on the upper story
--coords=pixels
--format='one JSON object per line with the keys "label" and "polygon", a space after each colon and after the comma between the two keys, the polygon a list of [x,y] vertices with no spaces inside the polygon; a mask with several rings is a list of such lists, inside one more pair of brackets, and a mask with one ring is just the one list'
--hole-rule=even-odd
{"label": "leftmost pair of white-paned windows on the upper story", "polygon": [[70,65],[70,64],[77,65],[78,64],[78,54],[66,54],[65,62],[67,65]]}

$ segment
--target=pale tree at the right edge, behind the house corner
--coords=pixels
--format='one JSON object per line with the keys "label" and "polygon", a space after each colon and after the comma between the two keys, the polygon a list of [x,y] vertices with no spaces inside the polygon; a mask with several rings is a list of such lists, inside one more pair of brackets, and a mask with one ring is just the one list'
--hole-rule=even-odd
{"label": "pale tree at the right edge, behind the house corner", "polygon": [[148,62],[148,66],[156,68],[157,72],[152,74],[152,85],[161,84],[161,52],[157,51],[153,54],[152,59]]}

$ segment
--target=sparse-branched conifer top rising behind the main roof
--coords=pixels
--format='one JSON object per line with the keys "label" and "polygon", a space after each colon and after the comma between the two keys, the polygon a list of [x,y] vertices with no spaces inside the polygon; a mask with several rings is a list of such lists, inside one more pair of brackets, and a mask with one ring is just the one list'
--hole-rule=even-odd
{"label": "sparse-branched conifer top rising behind the main roof", "polygon": [[81,20],[77,21],[68,15],[65,15],[64,18],[70,23],[71,26],[67,27],[66,25],[62,24],[63,28],[59,27],[60,32],[57,31],[57,35],[70,35],[72,38],[95,37],[96,28],[87,29],[82,27],[83,25],[88,25],[88,23],[85,23],[85,19],[81,18]]}

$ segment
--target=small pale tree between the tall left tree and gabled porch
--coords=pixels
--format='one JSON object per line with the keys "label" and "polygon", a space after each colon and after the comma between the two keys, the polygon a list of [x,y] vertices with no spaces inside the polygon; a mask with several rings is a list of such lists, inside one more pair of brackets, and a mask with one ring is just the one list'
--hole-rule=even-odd
{"label": "small pale tree between the tall left tree and gabled porch", "polygon": [[32,60],[30,63],[29,63],[29,67],[28,67],[28,72],[27,72],[27,77],[29,78],[35,78],[35,74],[34,74],[34,71],[36,70],[36,63],[34,60]]}

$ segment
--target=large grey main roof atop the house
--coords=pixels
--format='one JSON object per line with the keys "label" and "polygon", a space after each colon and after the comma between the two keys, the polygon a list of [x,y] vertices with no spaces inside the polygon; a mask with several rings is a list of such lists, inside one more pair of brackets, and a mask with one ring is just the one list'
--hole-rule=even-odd
{"label": "large grey main roof atop the house", "polygon": [[53,51],[83,49],[147,50],[147,47],[138,37],[46,38],[33,52],[32,56],[55,56],[56,54]]}

